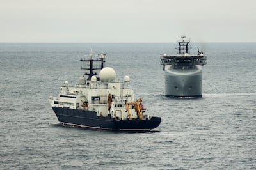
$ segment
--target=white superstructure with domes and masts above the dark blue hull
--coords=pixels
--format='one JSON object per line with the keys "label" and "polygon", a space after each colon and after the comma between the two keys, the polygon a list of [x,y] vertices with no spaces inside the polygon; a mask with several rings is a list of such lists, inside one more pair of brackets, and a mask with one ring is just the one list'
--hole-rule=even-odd
{"label": "white superstructure with domes and masts above the dark blue hull", "polygon": [[[90,59],[81,59],[81,61],[92,61]],[[116,72],[113,68],[104,67],[104,60],[94,59],[93,61],[102,61],[102,68],[97,73],[86,73],[84,77],[79,78],[79,84],[70,86],[68,81],[60,87],[58,97],[50,97],[51,107],[69,108],[74,110],[95,111],[97,116],[116,118],[118,120],[146,119],[147,115],[142,115],[146,111],[141,108],[142,99],[134,99],[134,91],[130,87],[130,78],[125,76],[123,80],[116,79]],[[85,69],[85,68],[84,68]],[[140,111],[136,111],[136,104],[140,105]]]}

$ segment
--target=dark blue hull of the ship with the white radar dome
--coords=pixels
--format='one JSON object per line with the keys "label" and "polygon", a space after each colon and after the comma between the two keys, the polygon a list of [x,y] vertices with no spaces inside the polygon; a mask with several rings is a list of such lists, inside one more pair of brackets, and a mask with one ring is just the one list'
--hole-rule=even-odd
{"label": "dark blue hull of the ship with the white radar dome", "polygon": [[161,123],[159,117],[152,117],[150,120],[115,120],[110,116],[97,116],[94,111],[74,110],[65,107],[52,107],[52,109],[62,125],[95,130],[143,132],[150,131]]}

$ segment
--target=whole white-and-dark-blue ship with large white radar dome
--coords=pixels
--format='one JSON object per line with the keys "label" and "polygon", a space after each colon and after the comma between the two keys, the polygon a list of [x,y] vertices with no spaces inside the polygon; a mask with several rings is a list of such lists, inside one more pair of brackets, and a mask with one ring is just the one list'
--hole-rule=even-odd
{"label": "whole white-and-dark-blue ship with large white radar dome", "polygon": [[161,118],[151,116],[135,100],[129,76],[116,79],[116,72],[105,67],[106,54],[93,52],[80,59],[86,70],[79,83],[65,81],[58,97],[50,97],[51,107],[62,125],[128,132],[148,132],[159,126]]}

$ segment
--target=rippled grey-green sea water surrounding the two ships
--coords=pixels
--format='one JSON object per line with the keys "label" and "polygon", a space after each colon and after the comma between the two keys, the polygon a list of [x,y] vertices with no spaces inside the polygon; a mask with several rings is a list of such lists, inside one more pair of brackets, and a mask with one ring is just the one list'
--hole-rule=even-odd
{"label": "rippled grey-green sea water surrounding the two ships", "polygon": [[[159,54],[175,43],[0,43],[0,169],[256,169],[256,43],[191,43],[208,55],[202,98],[164,96]],[[156,132],[63,127],[48,98],[78,82],[79,59],[106,52]]]}

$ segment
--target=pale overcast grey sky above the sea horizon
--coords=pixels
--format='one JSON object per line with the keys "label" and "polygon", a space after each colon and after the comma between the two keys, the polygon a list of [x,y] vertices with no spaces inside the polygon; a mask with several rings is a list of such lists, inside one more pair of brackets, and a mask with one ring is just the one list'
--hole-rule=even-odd
{"label": "pale overcast grey sky above the sea horizon", "polygon": [[255,0],[0,0],[0,42],[256,42]]}

